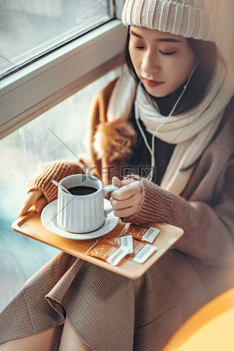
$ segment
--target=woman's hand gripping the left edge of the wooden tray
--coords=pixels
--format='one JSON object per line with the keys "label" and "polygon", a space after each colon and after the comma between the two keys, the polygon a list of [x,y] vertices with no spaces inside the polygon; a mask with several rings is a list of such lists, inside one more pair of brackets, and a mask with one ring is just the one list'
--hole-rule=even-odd
{"label": "woman's hand gripping the left edge of the wooden tray", "polygon": [[35,204],[36,212],[40,213],[43,208],[47,205],[47,201],[42,191],[40,190],[32,190],[28,193],[26,199],[22,203],[20,210],[18,212],[17,218],[23,216],[30,207]]}

